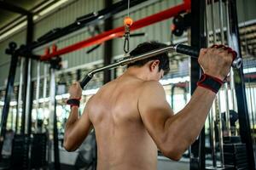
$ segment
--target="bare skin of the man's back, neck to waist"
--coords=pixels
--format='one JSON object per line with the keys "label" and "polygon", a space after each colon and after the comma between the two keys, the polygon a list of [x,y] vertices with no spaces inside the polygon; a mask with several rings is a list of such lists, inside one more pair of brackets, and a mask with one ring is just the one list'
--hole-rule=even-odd
{"label": "bare skin of the man's back, neck to waist", "polygon": [[97,170],[157,168],[157,147],[143,126],[137,107],[143,82],[121,76],[90,99],[87,107],[96,131]]}

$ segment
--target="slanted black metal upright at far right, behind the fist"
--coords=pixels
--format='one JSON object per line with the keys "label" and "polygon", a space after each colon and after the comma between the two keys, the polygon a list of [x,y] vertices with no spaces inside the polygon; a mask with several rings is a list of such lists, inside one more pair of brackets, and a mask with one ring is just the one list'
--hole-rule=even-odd
{"label": "slanted black metal upright at far right, behind the fist", "polygon": [[[234,48],[241,57],[241,44],[239,36],[239,27],[237,21],[237,10],[236,10],[236,0],[229,0],[229,18],[230,18],[230,42],[232,48]],[[245,143],[247,146],[247,157],[250,169],[255,169],[255,157],[253,154],[253,139],[250,128],[249,114],[247,109],[247,97],[245,91],[243,66],[239,70],[234,70],[235,75],[235,90],[236,90],[236,103],[239,117],[239,127],[241,142]]]}

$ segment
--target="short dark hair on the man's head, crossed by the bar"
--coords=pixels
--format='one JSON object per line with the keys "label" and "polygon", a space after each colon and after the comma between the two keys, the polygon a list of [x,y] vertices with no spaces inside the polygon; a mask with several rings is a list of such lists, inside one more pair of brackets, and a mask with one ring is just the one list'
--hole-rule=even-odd
{"label": "short dark hair on the man's head, crossed by the bar", "polygon": [[[152,50],[155,50],[155,49],[158,49],[158,48],[165,48],[167,47],[166,44],[164,43],[160,43],[160,42],[143,42],[143,43],[140,43],[137,45],[137,48],[134,48],[130,55],[131,56],[136,56],[136,55],[139,55],[139,54],[144,54],[144,53],[147,53],[149,51],[152,51]],[[134,63],[131,63],[129,65],[127,65],[127,67],[130,67],[130,66],[143,66],[145,65],[146,63],[148,63],[148,61],[151,61],[151,60],[155,60],[155,59],[158,59],[160,60],[160,64],[159,64],[159,71],[162,69],[163,71],[165,71],[165,74],[170,71],[170,67],[169,67],[169,58],[168,58],[168,54],[167,53],[163,53],[163,54],[158,54],[158,55],[155,55],[154,57],[149,57],[148,59],[142,59],[142,60],[138,60]]]}

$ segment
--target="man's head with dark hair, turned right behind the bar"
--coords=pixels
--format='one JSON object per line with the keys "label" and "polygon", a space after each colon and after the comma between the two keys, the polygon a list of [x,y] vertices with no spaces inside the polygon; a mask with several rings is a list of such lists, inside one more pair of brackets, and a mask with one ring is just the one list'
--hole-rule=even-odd
{"label": "man's head with dark hair, turned right behind the bar", "polygon": [[[160,42],[143,42],[137,45],[137,48],[134,48],[130,55],[137,56],[139,54],[145,54],[149,51],[156,50],[159,48],[165,48],[167,45]],[[156,77],[162,77],[163,74],[166,74],[170,71],[169,67],[169,58],[167,53],[158,54],[154,57],[150,57],[148,59],[138,60],[134,63],[127,65],[127,67],[143,67],[147,66],[149,71],[155,74]],[[156,78],[158,79],[158,78]]]}

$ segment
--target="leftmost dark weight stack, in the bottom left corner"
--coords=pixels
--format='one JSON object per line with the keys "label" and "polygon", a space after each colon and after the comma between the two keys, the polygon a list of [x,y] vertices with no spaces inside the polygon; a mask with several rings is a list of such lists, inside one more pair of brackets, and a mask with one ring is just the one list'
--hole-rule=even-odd
{"label": "leftmost dark weight stack, in the bottom left corner", "polygon": [[12,144],[11,169],[29,168],[29,141],[28,135],[15,134]]}

